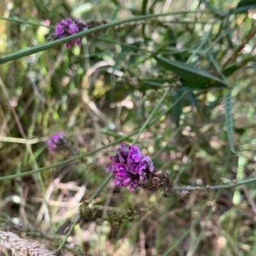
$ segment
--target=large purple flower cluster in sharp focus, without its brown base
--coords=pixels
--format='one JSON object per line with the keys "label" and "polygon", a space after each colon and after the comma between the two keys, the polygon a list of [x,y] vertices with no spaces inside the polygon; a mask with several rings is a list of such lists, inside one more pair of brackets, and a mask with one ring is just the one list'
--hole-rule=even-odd
{"label": "large purple flower cluster in sharp focus, without its brown base", "polygon": [[130,192],[145,184],[154,172],[150,157],[145,156],[137,146],[122,143],[110,160],[111,166],[107,171],[115,175],[115,185],[127,187]]}

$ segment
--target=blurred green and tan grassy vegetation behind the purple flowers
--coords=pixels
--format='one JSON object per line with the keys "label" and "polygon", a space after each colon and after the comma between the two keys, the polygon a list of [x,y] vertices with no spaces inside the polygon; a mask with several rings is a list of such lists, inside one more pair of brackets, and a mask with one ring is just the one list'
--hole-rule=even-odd
{"label": "blurred green and tan grassy vegetation behind the purple flowers", "polygon": [[[121,140],[137,138],[177,185],[255,177],[254,8],[0,1],[0,230],[56,250]],[[51,41],[67,17],[109,23],[68,51]],[[49,153],[45,141],[60,131],[81,157]],[[24,175],[31,170],[42,172]],[[109,182],[92,204],[140,214],[77,225],[63,255],[255,255],[255,196],[255,184],[164,198]]]}

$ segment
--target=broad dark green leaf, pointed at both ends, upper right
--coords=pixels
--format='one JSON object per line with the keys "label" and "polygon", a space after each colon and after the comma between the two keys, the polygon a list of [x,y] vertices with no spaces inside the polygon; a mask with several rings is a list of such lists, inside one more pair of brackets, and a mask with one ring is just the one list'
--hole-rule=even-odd
{"label": "broad dark green leaf, pointed at both ends, upper right", "polygon": [[186,64],[181,61],[167,60],[166,58],[154,56],[155,60],[159,65],[163,66],[167,70],[180,76],[180,81],[184,86],[190,88],[213,88],[213,87],[226,87],[221,79],[214,77],[205,70],[197,68],[193,65]]}

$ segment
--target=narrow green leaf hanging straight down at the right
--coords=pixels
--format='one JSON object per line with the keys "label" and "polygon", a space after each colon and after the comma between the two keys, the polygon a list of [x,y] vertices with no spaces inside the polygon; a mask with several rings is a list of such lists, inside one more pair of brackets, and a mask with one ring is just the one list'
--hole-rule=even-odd
{"label": "narrow green leaf hanging straight down at the right", "polygon": [[225,95],[225,122],[227,127],[228,134],[228,144],[230,151],[236,153],[234,148],[234,139],[233,139],[233,118],[232,118],[232,91],[228,90]]}

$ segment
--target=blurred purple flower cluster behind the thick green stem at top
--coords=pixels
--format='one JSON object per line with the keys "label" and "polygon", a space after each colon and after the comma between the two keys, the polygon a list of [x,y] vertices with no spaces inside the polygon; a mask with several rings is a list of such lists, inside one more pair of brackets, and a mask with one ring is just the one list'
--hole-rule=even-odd
{"label": "blurred purple flower cluster behind the thick green stem at top", "polygon": [[[74,35],[85,29],[87,29],[87,26],[81,19],[63,19],[55,27],[55,36],[57,39],[60,39],[65,36]],[[81,38],[76,38],[67,42],[67,49],[70,49],[74,44],[81,46]]]}

